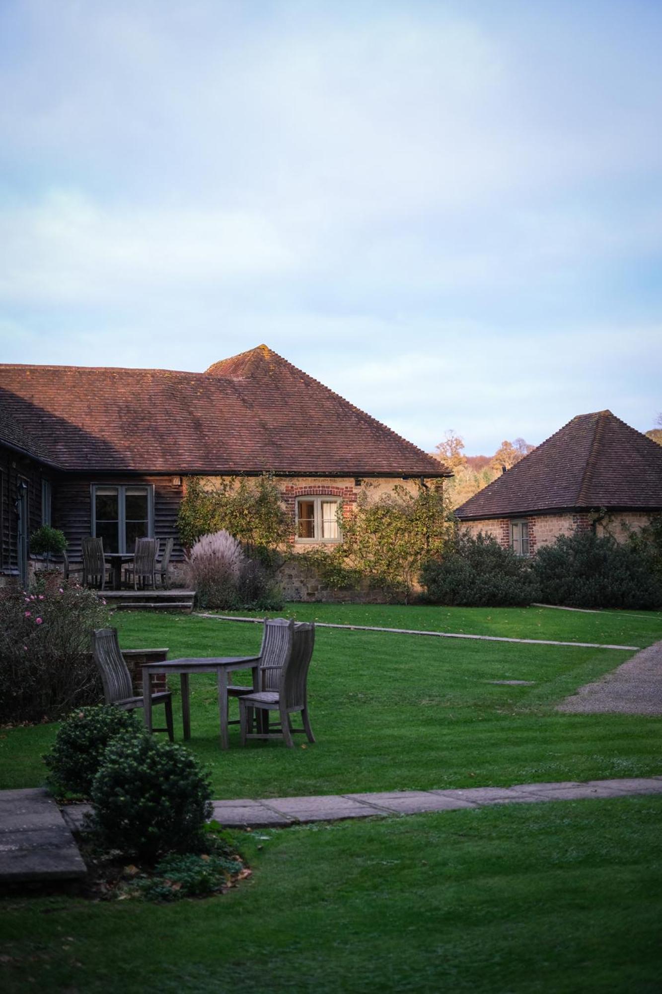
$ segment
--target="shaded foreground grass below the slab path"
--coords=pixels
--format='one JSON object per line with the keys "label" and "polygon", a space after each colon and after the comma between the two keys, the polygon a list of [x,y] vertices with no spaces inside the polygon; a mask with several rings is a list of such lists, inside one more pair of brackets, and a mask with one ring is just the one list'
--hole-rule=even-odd
{"label": "shaded foreground grass below the slab path", "polygon": [[653,994],[661,829],[639,796],[253,833],[253,878],[222,898],[0,902],[0,984]]}

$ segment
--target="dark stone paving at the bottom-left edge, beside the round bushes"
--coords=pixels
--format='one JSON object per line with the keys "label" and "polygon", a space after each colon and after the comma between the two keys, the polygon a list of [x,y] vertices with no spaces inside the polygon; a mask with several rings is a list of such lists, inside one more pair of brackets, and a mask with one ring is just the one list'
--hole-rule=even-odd
{"label": "dark stone paving at the bottom-left edge, beside the round bushes", "polygon": [[48,790],[0,793],[0,885],[80,880],[83,858]]}

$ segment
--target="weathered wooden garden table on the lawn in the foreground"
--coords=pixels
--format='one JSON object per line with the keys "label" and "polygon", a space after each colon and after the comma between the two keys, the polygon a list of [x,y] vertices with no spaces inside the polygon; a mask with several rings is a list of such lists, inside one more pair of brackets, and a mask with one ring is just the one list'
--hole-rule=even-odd
{"label": "weathered wooden garden table on the lawn in the foreground", "polygon": [[195,659],[168,659],[160,663],[147,663],[142,667],[142,697],[145,725],[152,731],[152,674],[168,676],[179,673],[182,686],[182,724],[184,739],[191,738],[191,701],[189,677],[192,673],[216,673],[219,685],[219,717],[221,719],[221,748],[228,748],[228,674],[233,670],[252,670],[252,689],[259,690],[259,656],[211,656]]}

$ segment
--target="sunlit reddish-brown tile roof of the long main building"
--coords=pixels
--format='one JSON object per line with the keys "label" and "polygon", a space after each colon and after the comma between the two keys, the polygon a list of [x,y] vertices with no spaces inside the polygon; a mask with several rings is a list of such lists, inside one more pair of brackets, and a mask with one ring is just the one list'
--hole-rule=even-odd
{"label": "sunlit reddish-brown tile roof of the long main building", "polygon": [[0,365],[0,397],[70,470],[450,475],[265,345],[205,373]]}

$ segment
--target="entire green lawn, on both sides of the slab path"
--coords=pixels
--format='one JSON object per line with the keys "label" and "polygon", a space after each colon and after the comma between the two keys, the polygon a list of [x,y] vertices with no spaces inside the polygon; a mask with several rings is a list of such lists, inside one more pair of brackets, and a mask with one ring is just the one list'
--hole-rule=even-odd
{"label": "entire green lawn, on both sides of the slab path", "polygon": [[[662,638],[659,614],[290,607],[348,624],[639,646]],[[173,657],[259,645],[258,625],[137,612],[114,620],[123,647],[167,645]],[[242,749],[233,729],[221,752],[214,683],[200,677],[191,747],[216,797],[659,774],[659,719],[554,710],[631,655],[320,628],[310,671],[317,745]],[[505,679],[534,683],[489,683]],[[179,741],[180,728],[178,711]],[[43,782],[40,756],[55,731],[0,732],[0,786]],[[242,843],[252,879],[221,898],[0,900],[0,989],[653,994],[661,840],[662,796],[255,831]]]}

